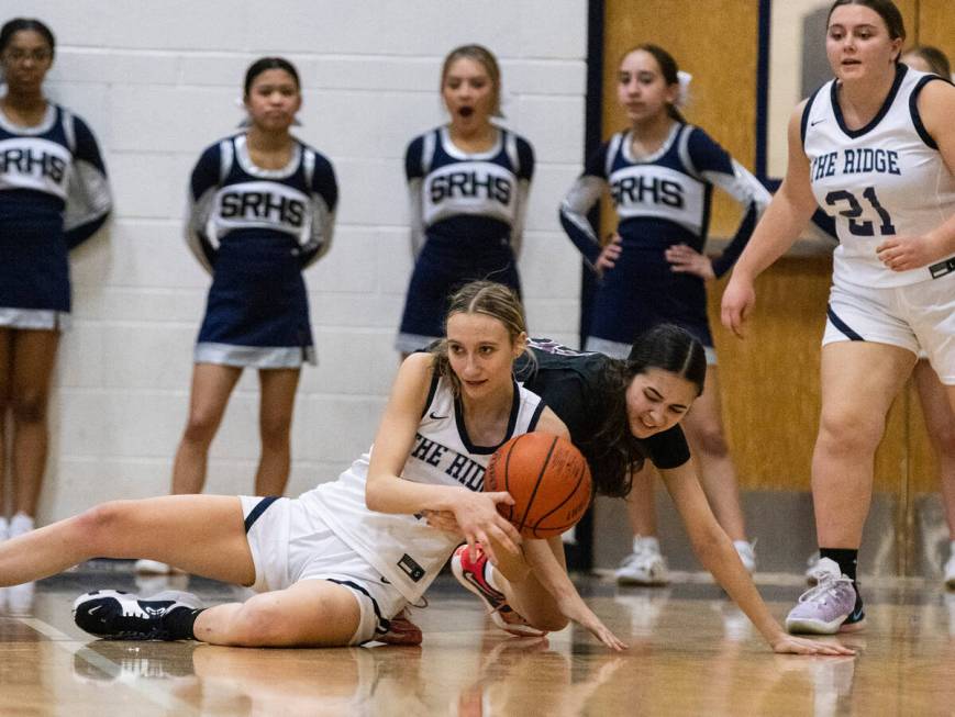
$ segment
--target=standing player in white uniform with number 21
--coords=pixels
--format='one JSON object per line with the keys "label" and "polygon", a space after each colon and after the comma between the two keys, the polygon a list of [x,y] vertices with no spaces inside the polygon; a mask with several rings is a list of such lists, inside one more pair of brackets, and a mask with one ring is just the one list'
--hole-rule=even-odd
{"label": "standing player in white uniform with number 21", "polygon": [[820,582],[790,612],[790,631],[863,626],[855,569],[875,450],[920,348],[955,406],[955,87],[899,64],[904,38],[890,0],[832,5],[835,79],[792,113],[786,178],[723,294],[723,323],[742,336],[756,277],[817,206],[834,217],[812,457]]}

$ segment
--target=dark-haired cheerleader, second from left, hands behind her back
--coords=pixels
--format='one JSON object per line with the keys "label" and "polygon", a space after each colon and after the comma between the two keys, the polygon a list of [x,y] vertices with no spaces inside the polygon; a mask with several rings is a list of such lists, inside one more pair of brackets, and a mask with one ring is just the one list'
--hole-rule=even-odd
{"label": "dark-haired cheerleader, second from left, hands behind her back", "polygon": [[[296,68],[264,57],[245,76],[248,128],[207,148],[192,170],[187,240],[212,275],[196,345],[186,432],[173,493],[200,493],[209,446],[245,367],[258,369],[258,495],[288,481],[292,408],[302,363],[314,363],[302,270],[332,243],[332,165],[293,137],[302,98]],[[141,561],[140,572],[166,567]]]}

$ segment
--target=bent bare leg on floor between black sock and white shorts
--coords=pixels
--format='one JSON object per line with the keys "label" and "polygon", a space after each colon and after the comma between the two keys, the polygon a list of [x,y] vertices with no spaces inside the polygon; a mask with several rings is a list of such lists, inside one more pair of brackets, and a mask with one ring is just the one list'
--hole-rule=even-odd
{"label": "bent bare leg on floor between black sock and white shorts", "polygon": [[216,605],[196,619],[196,638],[237,647],[335,647],[358,629],[360,610],[352,591],[324,580],[306,580],[245,603]]}

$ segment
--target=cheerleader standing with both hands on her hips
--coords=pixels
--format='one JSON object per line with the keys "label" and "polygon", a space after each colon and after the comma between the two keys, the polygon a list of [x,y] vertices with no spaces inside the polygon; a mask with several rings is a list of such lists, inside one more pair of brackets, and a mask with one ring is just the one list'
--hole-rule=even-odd
{"label": "cheerleader standing with both hands on her hips", "polygon": [[[686,123],[677,108],[688,81],[656,45],[640,45],[623,56],[617,98],[631,127],[589,158],[560,206],[560,223],[600,277],[587,350],[626,358],[634,338],[662,323],[681,326],[706,348],[707,391],[687,416],[687,437],[717,517],[752,572],[756,558],[723,433],[706,282],[732,267],[769,194],[703,130]],[[722,256],[710,260],[703,245],[714,186],[740,202],[746,215]],[[587,213],[607,190],[619,225],[601,248]],[[623,583],[668,580],[656,538],[653,483],[653,473],[638,475],[628,503],[634,538],[617,572]]]}

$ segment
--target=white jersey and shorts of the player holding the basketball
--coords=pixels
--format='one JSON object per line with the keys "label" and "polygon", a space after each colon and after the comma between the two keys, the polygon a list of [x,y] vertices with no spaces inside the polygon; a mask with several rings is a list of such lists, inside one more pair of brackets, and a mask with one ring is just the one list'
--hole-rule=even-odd
{"label": "white jersey and shorts of the player holding the basketball", "polygon": [[[544,410],[534,393],[514,384],[508,429],[500,445],[534,430]],[[401,478],[432,485],[484,490],[491,455],[467,435],[462,404],[446,379],[435,377]],[[387,620],[417,603],[462,540],[432,528],[423,516],[376,513],[365,504],[374,446],[336,481],[298,498],[242,497],[256,569],[253,590],[281,590],[309,579],[331,580],[355,592],[362,625],[353,643],[387,631]]]}

